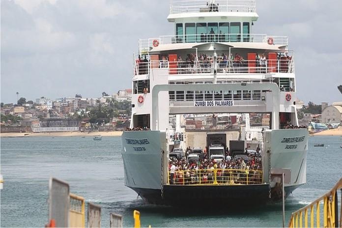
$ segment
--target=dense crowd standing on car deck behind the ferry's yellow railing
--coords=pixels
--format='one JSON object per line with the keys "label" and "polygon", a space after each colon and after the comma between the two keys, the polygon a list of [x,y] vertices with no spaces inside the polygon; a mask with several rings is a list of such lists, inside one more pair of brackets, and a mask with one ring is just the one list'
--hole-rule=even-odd
{"label": "dense crowd standing on car deck behind the ferry's yellow railing", "polygon": [[[212,184],[215,179],[219,184],[247,184],[261,183],[261,157],[259,154],[248,154],[247,148],[243,157],[232,157],[226,152],[221,162],[208,159],[204,149],[204,156],[198,161],[188,161],[187,156],[191,149],[187,148],[185,157],[169,160],[170,184]],[[258,150],[258,152],[260,149]],[[247,177],[248,176],[248,177]]]}

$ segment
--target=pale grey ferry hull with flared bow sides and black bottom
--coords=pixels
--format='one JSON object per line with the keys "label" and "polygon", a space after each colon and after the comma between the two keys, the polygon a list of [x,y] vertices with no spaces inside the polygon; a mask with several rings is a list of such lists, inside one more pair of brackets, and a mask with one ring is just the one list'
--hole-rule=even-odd
{"label": "pale grey ferry hull with flared bow sides and black bottom", "polygon": [[[287,196],[306,183],[308,131],[306,129],[270,130],[264,134],[264,151],[271,151],[271,187],[276,188],[277,178],[274,176],[277,176],[278,172],[285,172]],[[166,142],[166,134],[160,131],[128,131],[122,134],[125,185],[135,190],[146,201],[156,204],[173,204],[176,201],[180,202],[184,197],[198,198],[202,201],[208,199],[207,202],[213,198],[222,202],[241,199],[259,202],[269,200],[267,152],[263,152],[262,156],[264,184],[197,186],[196,188],[186,185],[171,186],[166,184],[165,174],[162,174],[162,151],[167,151]],[[164,173],[166,169],[167,166],[165,166]],[[176,198],[180,201],[172,200]],[[272,198],[278,199],[279,197],[275,194]]]}

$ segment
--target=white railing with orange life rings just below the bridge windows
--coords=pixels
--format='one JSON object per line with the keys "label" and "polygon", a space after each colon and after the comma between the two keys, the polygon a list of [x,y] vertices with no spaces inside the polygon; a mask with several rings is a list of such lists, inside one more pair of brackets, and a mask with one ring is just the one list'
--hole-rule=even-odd
{"label": "white railing with orange life rings just below the bridge windows", "polygon": [[[270,39],[272,38],[272,39]],[[160,37],[140,39],[139,52],[147,54],[150,49],[158,45],[180,44],[180,43],[207,43],[207,42],[247,42],[247,43],[270,43],[269,45],[288,45],[287,36],[273,36],[267,34],[241,34],[241,33],[216,33],[216,34],[183,34],[183,35],[162,35]]]}

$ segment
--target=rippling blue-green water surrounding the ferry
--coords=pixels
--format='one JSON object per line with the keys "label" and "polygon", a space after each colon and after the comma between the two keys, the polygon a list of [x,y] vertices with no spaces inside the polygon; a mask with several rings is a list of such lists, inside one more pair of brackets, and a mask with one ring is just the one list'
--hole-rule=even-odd
{"label": "rippling blue-green water surrounding the ferry", "polygon": [[[342,137],[309,139],[307,184],[286,199],[286,223],[291,212],[325,193],[342,177]],[[314,147],[324,143],[325,147]],[[281,227],[282,205],[262,209],[196,211],[146,205],[124,186],[120,137],[1,138],[1,227],[43,227],[48,220],[50,176],[65,180],[70,191],[102,206],[102,227],[109,213],[124,216],[133,226],[133,210],[142,227]]]}

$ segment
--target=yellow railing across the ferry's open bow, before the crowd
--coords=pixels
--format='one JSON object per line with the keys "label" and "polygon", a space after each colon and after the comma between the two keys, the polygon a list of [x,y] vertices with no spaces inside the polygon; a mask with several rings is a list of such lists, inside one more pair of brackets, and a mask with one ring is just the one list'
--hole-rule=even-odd
{"label": "yellow railing across the ferry's open bow, before the crowd", "polygon": [[237,185],[261,184],[263,175],[260,170],[208,169],[179,170],[168,172],[171,185]]}

